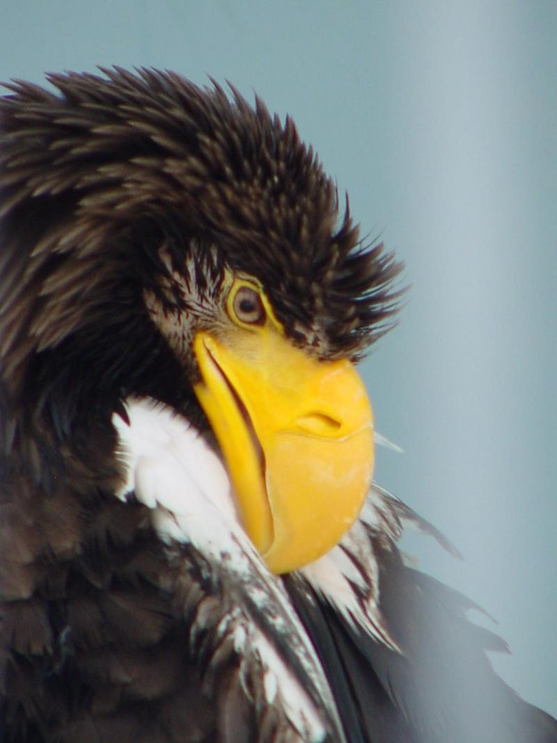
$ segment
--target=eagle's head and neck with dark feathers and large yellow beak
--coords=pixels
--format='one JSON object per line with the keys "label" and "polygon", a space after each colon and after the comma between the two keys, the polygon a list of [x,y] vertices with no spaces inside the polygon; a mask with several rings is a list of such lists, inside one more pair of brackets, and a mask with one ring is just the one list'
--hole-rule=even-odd
{"label": "eagle's head and neck with dark feathers and large yellow beak", "polygon": [[[216,83],[103,74],[14,82],[0,103],[4,452],[45,489],[82,481],[123,400],[159,400],[212,441],[255,547],[290,571],[368,491],[354,360],[400,265],[359,241],[290,118]],[[117,478],[105,461],[95,477]]]}

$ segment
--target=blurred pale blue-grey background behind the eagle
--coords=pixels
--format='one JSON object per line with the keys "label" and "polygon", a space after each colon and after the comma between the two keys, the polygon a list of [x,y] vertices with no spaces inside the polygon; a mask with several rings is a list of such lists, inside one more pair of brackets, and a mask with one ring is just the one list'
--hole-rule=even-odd
{"label": "blurred pale blue-grey background behind the eagle", "polygon": [[405,548],[498,619],[495,666],[553,715],[556,40],[554,0],[1,2],[1,80],[149,65],[292,114],[406,264],[399,325],[362,364],[404,450],[376,478],[464,560]]}

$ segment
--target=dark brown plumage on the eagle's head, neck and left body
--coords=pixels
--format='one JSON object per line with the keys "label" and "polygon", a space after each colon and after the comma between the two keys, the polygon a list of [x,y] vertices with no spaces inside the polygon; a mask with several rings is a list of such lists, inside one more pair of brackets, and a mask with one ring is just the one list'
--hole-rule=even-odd
{"label": "dark brown plumage on the eagle's head, neck and left body", "polygon": [[[225,267],[252,274],[294,342],[333,358],[359,357],[389,327],[400,265],[359,241],[348,201],[341,213],[289,117],[170,72],[102,73],[51,75],[55,92],[13,82],[0,99],[2,741],[290,743],[299,736],[224,621],[238,610],[240,629],[271,637],[278,614],[256,611],[226,565],[193,545],[163,545],[133,496],[115,498],[123,472],[111,415],[126,421],[123,400],[149,396],[206,432],[195,366],[177,360],[146,308],[151,292],[167,313],[191,309],[175,272],[198,296],[216,291]],[[391,595],[399,629],[406,589],[414,609],[420,590],[451,598],[398,564],[394,542],[411,512],[388,510],[396,533],[377,541],[400,588],[383,600]],[[425,708],[414,712],[405,679],[395,679],[394,701],[382,686],[384,659],[394,669],[406,659],[351,633],[330,605],[307,603],[302,619],[314,609],[321,619],[309,633],[336,702],[351,709],[340,710],[347,737],[423,739],[408,732],[404,711],[418,718]],[[274,649],[327,742],[341,741],[332,697],[319,695],[287,629]],[[404,640],[405,627],[397,634]],[[377,681],[370,695],[365,683],[352,693],[365,674]],[[544,725],[553,742],[553,723]]]}

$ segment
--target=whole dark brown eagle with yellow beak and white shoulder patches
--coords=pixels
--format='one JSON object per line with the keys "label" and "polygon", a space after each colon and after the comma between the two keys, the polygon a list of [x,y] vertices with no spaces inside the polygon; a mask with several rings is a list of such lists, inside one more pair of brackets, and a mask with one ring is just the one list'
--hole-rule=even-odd
{"label": "whole dark brown eagle with yellow beak and white shoulder patches", "polygon": [[400,263],[290,117],[121,68],[0,100],[3,743],[555,743],[418,571],[356,362]]}

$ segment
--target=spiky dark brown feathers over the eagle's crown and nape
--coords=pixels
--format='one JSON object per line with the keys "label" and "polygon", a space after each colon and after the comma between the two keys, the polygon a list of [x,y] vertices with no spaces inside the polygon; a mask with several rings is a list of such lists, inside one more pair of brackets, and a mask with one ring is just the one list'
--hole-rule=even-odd
{"label": "spiky dark brown feathers over the eagle's crown and nape", "polygon": [[119,277],[145,281],[163,239],[177,261],[194,236],[216,245],[323,356],[360,354],[385,329],[400,266],[359,243],[348,202],[339,217],[333,181],[290,117],[281,123],[259,99],[252,108],[235,88],[230,100],[215,82],[103,73],[50,75],[60,95],[14,82],[0,103],[8,377],[32,351],[100,322]]}

